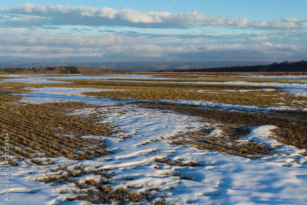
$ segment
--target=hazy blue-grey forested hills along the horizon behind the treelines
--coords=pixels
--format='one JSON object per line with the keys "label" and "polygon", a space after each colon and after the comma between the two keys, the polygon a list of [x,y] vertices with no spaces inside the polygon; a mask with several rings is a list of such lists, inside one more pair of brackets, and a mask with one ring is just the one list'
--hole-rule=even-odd
{"label": "hazy blue-grey forested hills along the horizon behind the treelines", "polygon": [[157,71],[161,69],[198,69],[198,68],[217,68],[217,67],[231,67],[244,65],[266,65],[268,62],[257,61],[224,61],[224,62],[169,62],[161,67],[162,62],[0,62],[0,68],[20,67],[20,68],[40,68],[54,67],[54,66],[76,66],[76,67],[92,67],[99,69],[123,70],[123,71]]}

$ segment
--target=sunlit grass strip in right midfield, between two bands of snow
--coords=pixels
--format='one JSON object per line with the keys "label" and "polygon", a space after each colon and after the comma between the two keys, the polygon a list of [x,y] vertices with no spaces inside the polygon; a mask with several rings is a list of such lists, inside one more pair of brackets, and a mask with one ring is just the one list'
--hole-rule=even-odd
{"label": "sunlit grass strip in right midfield, between two bands of snow", "polygon": [[[228,87],[229,88],[229,87]],[[187,100],[187,101],[211,101],[225,104],[277,106],[276,103],[284,103],[292,106],[307,106],[307,97],[288,95],[280,90],[276,91],[249,91],[249,92],[227,92],[208,90],[204,93],[181,92],[176,88],[156,90],[133,90],[133,91],[107,91],[107,92],[86,92],[85,95],[130,100]],[[215,92],[215,93],[206,93]],[[301,102],[298,104],[296,102]]]}

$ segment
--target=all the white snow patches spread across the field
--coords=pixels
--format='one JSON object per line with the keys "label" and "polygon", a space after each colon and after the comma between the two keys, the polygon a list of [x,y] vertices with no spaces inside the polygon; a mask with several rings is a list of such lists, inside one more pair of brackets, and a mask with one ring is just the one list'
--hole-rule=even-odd
{"label": "all the white snow patches spread across the field", "polygon": [[[50,77],[17,77],[3,79],[2,82],[21,83],[62,83],[47,81]],[[240,76],[241,77],[241,76]],[[306,76],[261,76],[251,75],[253,78],[302,78]],[[99,77],[56,77],[56,79],[84,79],[106,80],[111,78],[161,79],[153,76],[141,75],[114,75]],[[167,79],[167,78],[165,78]],[[69,83],[69,82],[64,82]],[[155,82],[156,83],[156,82]],[[186,83],[186,82],[185,82]],[[251,82],[197,82],[205,84],[230,85],[264,85],[282,88],[289,95],[307,96],[307,84],[295,83],[251,83]],[[306,150],[293,145],[283,144],[274,134],[280,129],[274,125],[262,126],[247,125],[248,134],[240,136],[237,144],[255,143],[272,148],[270,154],[259,155],[257,160],[242,156],[234,156],[214,150],[197,149],[192,144],[170,143],[178,135],[188,139],[188,132],[211,130],[206,138],[215,141],[226,136],[222,127],[228,122],[204,122],[199,116],[145,108],[135,104],[141,101],[113,100],[85,96],[84,92],[126,91],[125,89],[94,89],[94,88],[67,88],[42,87],[32,88],[29,93],[12,93],[22,97],[18,102],[23,104],[42,104],[52,102],[81,102],[93,105],[92,108],[78,108],[67,113],[72,116],[95,116],[96,123],[107,123],[116,126],[118,132],[110,136],[80,136],[86,139],[100,139],[105,141],[107,150],[112,154],[93,157],[91,160],[76,160],[64,156],[41,157],[42,161],[53,161],[54,164],[40,166],[30,159],[15,161],[19,166],[10,166],[10,201],[6,201],[4,188],[5,168],[0,166],[0,176],[3,179],[0,190],[0,204],[29,204],[29,205],[56,205],[56,204],[92,204],[86,200],[68,201],[82,195],[75,183],[43,183],[37,179],[44,179],[58,174],[59,167],[65,166],[74,169],[83,166],[85,171],[105,169],[110,175],[112,184],[108,185],[115,190],[125,187],[131,193],[148,192],[151,200],[140,202],[119,202],[111,200],[111,204],[307,204],[307,156],[302,155]],[[258,89],[269,92],[275,89]],[[233,92],[248,92],[250,90],[221,90]],[[193,92],[193,91],[192,91]],[[200,91],[199,91],[200,92]],[[206,92],[206,91],[201,91]],[[235,112],[269,112],[296,111],[305,112],[307,108],[288,106],[247,106],[223,104],[214,101],[187,101],[162,100],[161,102],[175,105],[197,106],[198,108],[227,110]],[[3,103],[3,102],[1,102]],[[142,101],[150,104],[151,101]],[[61,128],[59,128],[61,129]],[[127,136],[124,138],[123,136]],[[166,159],[183,163],[177,166],[163,163]],[[195,163],[195,166],[191,164]],[[197,163],[197,164],[196,164]],[[56,170],[52,172],[51,170]],[[64,173],[64,172],[63,172]],[[83,174],[75,177],[79,183],[93,179],[99,181],[100,175]],[[129,186],[127,186],[129,185]],[[95,189],[88,185],[86,189]],[[84,199],[84,198],[82,198]],[[160,202],[158,202],[160,201]],[[102,204],[102,203],[101,203]]]}

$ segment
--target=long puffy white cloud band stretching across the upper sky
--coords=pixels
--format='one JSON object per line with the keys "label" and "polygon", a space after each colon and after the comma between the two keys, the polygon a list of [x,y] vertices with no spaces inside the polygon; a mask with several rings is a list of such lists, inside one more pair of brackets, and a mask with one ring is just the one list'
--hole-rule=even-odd
{"label": "long puffy white cloud band stretching across the upper sky", "polygon": [[[6,9],[0,9],[4,12]],[[155,28],[187,28],[190,26],[221,26],[237,28],[261,28],[261,29],[303,29],[307,21],[296,17],[287,17],[281,20],[249,20],[245,17],[222,18],[219,16],[205,16],[203,13],[170,13],[170,12],[141,12],[137,10],[93,7],[69,7],[69,6],[34,6],[25,3],[10,10],[12,17],[3,20],[2,23],[23,23],[24,26],[38,26],[47,18],[51,18],[52,25],[89,25],[89,26],[129,26],[141,27],[148,23]],[[18,15],[18,17],[14,16]]]}

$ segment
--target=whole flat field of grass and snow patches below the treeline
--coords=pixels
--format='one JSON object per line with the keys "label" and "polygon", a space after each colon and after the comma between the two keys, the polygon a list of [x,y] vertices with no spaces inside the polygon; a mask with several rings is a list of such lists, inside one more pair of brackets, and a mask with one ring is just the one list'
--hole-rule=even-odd
{"label": "whole flat field of grass and snow patches below the treeline", "polygon": [[306,78],[1,75],[10,203],[307,204]]}

